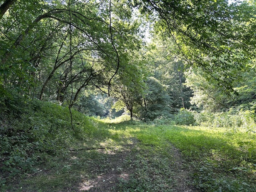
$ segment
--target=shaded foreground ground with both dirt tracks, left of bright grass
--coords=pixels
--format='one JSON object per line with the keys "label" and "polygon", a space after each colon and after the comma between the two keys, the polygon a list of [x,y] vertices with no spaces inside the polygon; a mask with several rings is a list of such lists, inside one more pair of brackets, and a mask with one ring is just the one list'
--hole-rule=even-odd
{"label": "shaded foreground ground with both dirt tracks, left of bright grass", "polygon": [[115,134],[73,146],[46,156],[36,173],[14,178],[6,192],[198,192],[180,151],[164,140]]}

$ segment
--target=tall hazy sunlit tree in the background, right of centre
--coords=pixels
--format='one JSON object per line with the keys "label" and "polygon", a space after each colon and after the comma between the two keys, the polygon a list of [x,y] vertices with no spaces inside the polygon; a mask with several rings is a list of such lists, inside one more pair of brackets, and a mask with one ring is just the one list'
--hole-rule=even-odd
{"label": "tall hazy sunlit tree in the background, right of centre", "polygon": [[153,39],[148,46],[147,57],[152,76],[168,85],[166,91],[172,97],[172,108],[189,108],[191,90],[183,85],[185,82],[184,71],[186,70],[183,60],[174,51],[173,42],[166,39],[164,42]]}

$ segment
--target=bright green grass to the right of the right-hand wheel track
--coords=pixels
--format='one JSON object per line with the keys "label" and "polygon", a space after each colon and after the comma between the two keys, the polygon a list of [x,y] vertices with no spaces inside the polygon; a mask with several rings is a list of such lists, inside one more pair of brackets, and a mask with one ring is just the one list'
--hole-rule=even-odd
{"label": "bright green grass to the right of the right-hand wheel track", "polygon": [[138,138],[154,146],[164,141],[174,144],[193,169],[192,184],[200,190],[256,190],[256,140],[252,132],[161,126],[142,130]]}

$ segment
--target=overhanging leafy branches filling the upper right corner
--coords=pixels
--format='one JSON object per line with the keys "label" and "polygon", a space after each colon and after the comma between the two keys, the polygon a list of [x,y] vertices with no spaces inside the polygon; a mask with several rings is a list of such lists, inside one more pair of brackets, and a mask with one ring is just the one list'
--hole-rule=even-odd
{"label": "overhanging leafy branches filling the upper right corner", "polygon": [[[249,1],[248,1],[249,2]],[[227,0],[155,1],[138,0],[135,5],[154,24],[154,33],[172,38],[177,55],[189,66],[198,66],[229,92],[244,63],[255,58],[255,3]],[[156,14],[154,14],[156,13]],[[152,16],[153,15],[153,16]]]}

